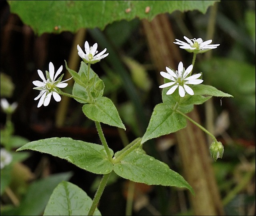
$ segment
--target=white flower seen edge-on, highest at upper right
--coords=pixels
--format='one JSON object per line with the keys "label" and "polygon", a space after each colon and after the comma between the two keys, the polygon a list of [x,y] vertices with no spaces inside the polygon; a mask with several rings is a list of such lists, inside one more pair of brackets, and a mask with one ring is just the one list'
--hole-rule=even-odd
{"label": "white flower seen edge-on, highest at upper right", "polygon": [[216,49],[220,44],[210,44],[212,40],[203,41],[202,38],[189,39],[184,36],[187,42],[175,39],[177,42],[174,44],[181,45],[180,48],[187,50],[188,52],[203,53],[211,49]]}

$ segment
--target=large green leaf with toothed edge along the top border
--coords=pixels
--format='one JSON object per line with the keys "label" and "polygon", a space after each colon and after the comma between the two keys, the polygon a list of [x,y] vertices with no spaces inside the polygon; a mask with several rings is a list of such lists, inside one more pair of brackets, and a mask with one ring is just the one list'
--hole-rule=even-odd
{"label": "large green leaf with toothed edge along the top border", "polygon": [[[136,17],[152,20],[160,13],[199,10],[205,13],[216,1],[8,1],[10,11],[31,26],[36,34],[76,32],[80,28],[101,30],[118,20]],[[146,12],[146,7],[150,10]]]}

